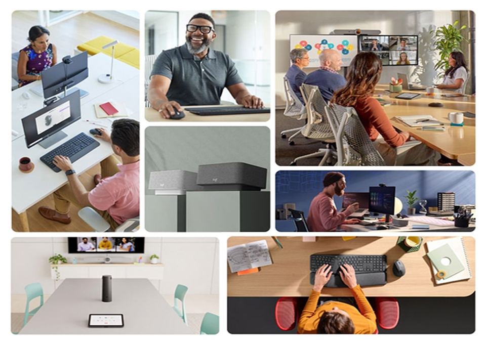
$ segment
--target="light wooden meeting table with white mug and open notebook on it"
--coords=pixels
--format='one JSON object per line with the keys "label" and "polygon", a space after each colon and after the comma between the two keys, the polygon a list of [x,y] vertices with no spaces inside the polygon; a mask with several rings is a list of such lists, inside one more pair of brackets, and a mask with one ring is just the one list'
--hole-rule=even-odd
{"label": "light wooden meeting table with white mug and open notebook on it", "polygon": [[[404,93],[420,94],[413,100],[395,98],[399,93],[390,93],[388,85],[379,84],[375,88],[374,97],[385,102],[392,102],[384,107],[391,124],[400,131],[407,131],[415,139],[425,143],[442,155],[458,160],[461,164],[472,165],[476,152],[476,120],[464,117],[464,126],[451,126],[448,118],[450,112],[476,112],[476,97],[464,95],[460,97],[444,97],[442,95],[456,94],[452,91],[434,89],[434,95],[426,95],[425,91],[403,91]],[[456,94],[458,95],[458,94]],[[442,107],[429,107],[428,104],[439,102]],[[406,115],[432,115],[443,122],[445,131],[427,131],[421,127],[411,127],[395,118]]]}

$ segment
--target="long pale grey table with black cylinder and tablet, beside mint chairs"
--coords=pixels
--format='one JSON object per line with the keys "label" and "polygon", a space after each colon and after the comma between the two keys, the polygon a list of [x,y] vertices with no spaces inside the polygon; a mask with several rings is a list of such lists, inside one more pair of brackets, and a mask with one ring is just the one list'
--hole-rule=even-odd
{"label": "long pale grey table with black cylinder and tablet, beside mint chairs", "polygon": [[[90,328],[90,314],[123,314],[121,328]],[[101,279],[65,279],[19,334],[191,334],[148,279],[112,279],[112,301]]]}

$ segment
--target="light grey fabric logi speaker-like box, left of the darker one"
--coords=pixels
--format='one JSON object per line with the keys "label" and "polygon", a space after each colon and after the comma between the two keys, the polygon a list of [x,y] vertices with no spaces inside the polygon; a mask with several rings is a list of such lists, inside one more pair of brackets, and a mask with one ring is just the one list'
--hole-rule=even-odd
{"label": "light grey fabric logi speaker-like box, left of the darker one", "polygon": [[162,170],[150,172],[149,190],[156,195],[185,195],[186,191],[200,191],[196,184],[197,173],[187,170]]}

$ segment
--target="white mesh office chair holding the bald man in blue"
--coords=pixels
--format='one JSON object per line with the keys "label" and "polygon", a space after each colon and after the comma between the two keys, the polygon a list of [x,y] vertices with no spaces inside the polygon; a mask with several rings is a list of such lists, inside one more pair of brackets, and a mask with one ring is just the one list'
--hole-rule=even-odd
{"label": "white mesh office chair holding the bald man in blue", "polygon": [[297,161],[311,157],[322,157],[319,166],[325,164],[334,165],[337,152],[330,144],[335,143],[336,140],[331,124],[326,116],[326,101],[324,101],[319,88],[315,85],[302,84],[300,90],[306,101],[305,108],[307,110],[307,124],[301,130],[302,135],[305,138],[319,139],[329,144],[327,148],[322,148],[312,154],[295,158],[290,165],[297,165]]}

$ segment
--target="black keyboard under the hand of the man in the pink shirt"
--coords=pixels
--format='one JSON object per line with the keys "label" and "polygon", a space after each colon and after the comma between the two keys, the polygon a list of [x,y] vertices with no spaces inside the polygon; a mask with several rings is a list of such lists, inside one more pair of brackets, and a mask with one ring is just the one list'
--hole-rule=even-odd
{"label": "black keyboard under the hand of the man in the pink shirt", "polygon": [[82,132],[76,137],[71,138],[69,141],[64,142],[59,147],[41,156],[41,161],[51,167],[51,169],[55,172],[59,172],[61,169],[52,163],[54,156],[67,156],[71,162],[74,162],[88,154],[99,145],[100,144],[98,141]]}

